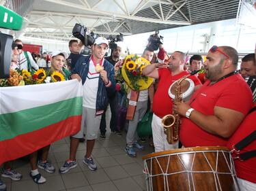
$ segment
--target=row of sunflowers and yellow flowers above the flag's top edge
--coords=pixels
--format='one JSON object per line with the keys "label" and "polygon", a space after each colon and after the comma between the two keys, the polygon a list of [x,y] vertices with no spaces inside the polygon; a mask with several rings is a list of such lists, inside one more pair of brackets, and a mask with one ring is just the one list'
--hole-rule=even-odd
{"label": "row of sunflowers and yellow flowers above the flag's top edge", "polygon": [[58,71],[54,71],[53,73],[46,73],[44,69],[38,69],[38,71],[35,71],[35,73],[33,73],[32,75],[29,71],[25,69],[10,69],[10,77],[8,77],[8,79],[1,79],[0,87],[45,84],[61,81],[65,81],[65,77],[62,73],[59,73]]}

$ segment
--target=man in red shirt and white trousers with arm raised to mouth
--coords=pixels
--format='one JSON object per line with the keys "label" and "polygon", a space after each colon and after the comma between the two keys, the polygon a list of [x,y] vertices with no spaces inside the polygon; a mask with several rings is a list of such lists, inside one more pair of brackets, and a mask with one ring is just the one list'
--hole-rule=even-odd
{"label": "man in red shirt and white trousers with arm raised to mouth", "polygon": [[[159,80],[153,99],[152,133],[155,152],[175,149],[178,146],[178,143],[169,144],[167,142],[167,135],[164,133],[161,121],[164,116],[173,113],[173,100],[168,94],[169,87],[176,80],[188,75],[188,71],[184,71],[185,60],[186,55],[183,52],[175,51],[168,60],[169,65],[167,63],[154,63],[143,69],[143,75]],[[201,86],[201,82],[195,75],[190,76],[190,79],[195,83],[195,88]]]}

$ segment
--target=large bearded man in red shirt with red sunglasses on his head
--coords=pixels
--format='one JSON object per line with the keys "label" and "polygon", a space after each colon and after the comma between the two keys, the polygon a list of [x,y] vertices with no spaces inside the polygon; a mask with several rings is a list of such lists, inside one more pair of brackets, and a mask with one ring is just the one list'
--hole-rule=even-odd
{"label": "large bearded man in red shirt with red sunglasses on his head", "polygon": [[184,116],[180,140],[185,147],[227,145],[253,104],[250,88],[236,73],[238,52],[229,46],[213,46],[203,63],[208,79],[189,103],[175,103]]}

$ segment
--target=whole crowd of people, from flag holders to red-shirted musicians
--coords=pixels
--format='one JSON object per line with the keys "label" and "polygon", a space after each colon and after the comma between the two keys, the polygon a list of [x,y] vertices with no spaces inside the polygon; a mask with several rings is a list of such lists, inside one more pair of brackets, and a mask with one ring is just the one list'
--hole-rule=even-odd
{"label": "whole crowd of people, from flag holders to red-shirted musicians", "polygon": [[[83,114],[81,131],[70,136],[70,156],[59,168],[59,173],[67,173],[77,166],[76,150],[79,141],[86,141],[83,163],[91,171],[96,171],[97,166],[91,157],[91,152],[98,139],[98,132],[100,131],[102,139],[106,137],[105,114],[108,105],[111,107],[109,125],[111,132],[122,136],[120,129],[117,128],[120,92],[115,86],[115,70],[120,69],[123,63],[120,59],[122,47],[117,44],[111,56],[104,58],[109,49],[109,41],[104,37],[96,38],[89,56],[79,54],[83,45],[77,40],[70,40],[68,46],[71,52],[69,56],[66,52],[53,52],[50,60],[51,71],[61,72],[66,80],[77,79],[82,82]],[[12,49],[12,69],[31,71],[48,67],[46,55],[35,63],[31,54],[23,51],[23,44],[19,39],[14,41]],[[178,147],[217,145],[236,150],[233,146],[256,130],[255,54],[248,54],[242,58],[240,71],[238,71],[238,52],[229,46],[213,46],[204,62],[200,55],[191,56],[188,68],[184,52],[175,51],[169,56],[162,45],[159,46],[158,55],[147,47],[142,57],[152,63],[143,69],[143,75],[153,77],[155,81],[150,88],[139,92],[134,118],[128,122],[126,145],[124,145],[128,156],[137,156],[135,148],[144,149],[137,135],[137,125],[148,109],[153,112],[152,137],[155,152]],[[202,73],[189,76],[195,84],[190,100],[174,102],[168,94],[171,84],[202,67]],[[130,99],[129,92],[126,96]],[[173,113],[179,114],[182,120],[180,145],[178,141],[173,144],[168,143],[162,127],[162,118]],[[250,152],[255,150],[255,147],[256,141],[253,141],[240,152]],[[40,160],[38,160],[38,151],[30,154],[30,175],[36,184],[46,182],[38,168],[48,173],[55,172],[55,167],[47,160],[49,149],[50,145],[42,148]],[[239,155],[235,158],[239,158]],[[255,156],[244,161],[234,159],[234,163],[240,190],[256,190]],[[19,180],[22,175],[5,162],[2,177]],[[0,180],[0,191],[3,190],[5,185]]]}

